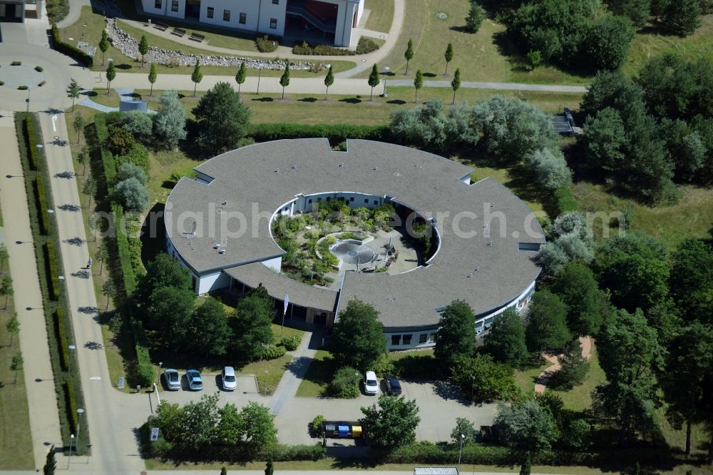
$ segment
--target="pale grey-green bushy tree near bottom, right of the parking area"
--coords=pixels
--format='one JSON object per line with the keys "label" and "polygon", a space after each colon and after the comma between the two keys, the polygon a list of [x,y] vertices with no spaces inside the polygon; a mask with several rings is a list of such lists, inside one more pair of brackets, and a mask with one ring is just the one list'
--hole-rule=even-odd
{"label": "pale grey-green bushy tree near bottom, right of the parking area", "polygon": [[493,429],[502,444],[535,453],[550,449],[558,436],[552,414],[534,399],[512,406],[498,405]]}

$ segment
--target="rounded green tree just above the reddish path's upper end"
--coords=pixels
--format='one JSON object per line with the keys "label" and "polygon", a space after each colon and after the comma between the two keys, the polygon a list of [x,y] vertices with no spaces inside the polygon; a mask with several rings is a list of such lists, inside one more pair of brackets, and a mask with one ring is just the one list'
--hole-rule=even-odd
{"label": "rounded green tree just above the reddish path's upper end", "polygon": [[568,262],[552,285],[567,305],[567,326],[575,335],[596,335],[602,327],[602,291],[594,272],[580,262]]}

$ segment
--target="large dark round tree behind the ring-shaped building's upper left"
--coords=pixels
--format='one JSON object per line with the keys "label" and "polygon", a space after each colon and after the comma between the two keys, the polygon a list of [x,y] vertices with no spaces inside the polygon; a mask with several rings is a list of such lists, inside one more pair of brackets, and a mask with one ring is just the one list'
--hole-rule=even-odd
{"label": "large dark round tree behind the ring-shaped building's upper left", "polygon": [[212,154],[232,150],[247,134],[250,108],[225,82],[217,83],[193,108],[198,122],[198,143]]}

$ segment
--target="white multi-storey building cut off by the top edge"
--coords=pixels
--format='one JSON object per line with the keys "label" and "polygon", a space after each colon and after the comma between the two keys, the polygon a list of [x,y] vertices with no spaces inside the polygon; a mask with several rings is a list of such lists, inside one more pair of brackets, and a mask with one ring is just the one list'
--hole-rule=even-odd
{"label": "white multi-storey building cut off by the top edge", "polygon": [[166,19],[197,20],[244,33],[322,35],[334,46],[356,46],[363,0],[141,0],[143,11]]}

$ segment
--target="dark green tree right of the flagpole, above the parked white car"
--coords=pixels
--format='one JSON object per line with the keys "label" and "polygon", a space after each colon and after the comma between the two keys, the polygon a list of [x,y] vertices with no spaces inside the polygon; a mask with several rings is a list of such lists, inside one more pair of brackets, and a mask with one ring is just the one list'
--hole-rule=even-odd
{"label": "dark green tree right of the flagpole, above the parked white car", "polygon": [[362,372],[371,369],[386,352],[383,334],[379,312],[361,300],[350,300],[339,312],[329,339],[337,366],[352,366]]}

